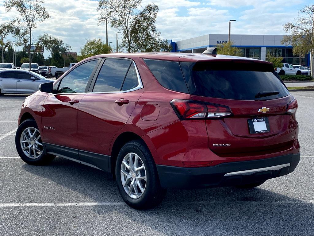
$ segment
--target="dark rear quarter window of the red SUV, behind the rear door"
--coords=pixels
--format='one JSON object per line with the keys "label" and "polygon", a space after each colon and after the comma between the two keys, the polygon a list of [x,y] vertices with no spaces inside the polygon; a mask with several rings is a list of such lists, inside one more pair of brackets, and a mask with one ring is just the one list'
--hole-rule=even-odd
{"label": "dark rear quarter window of the red SUV, behind the rear door", "polygon": [[179,62],[149,59],[144,61],[162,86],[170,90],[189,93]]}

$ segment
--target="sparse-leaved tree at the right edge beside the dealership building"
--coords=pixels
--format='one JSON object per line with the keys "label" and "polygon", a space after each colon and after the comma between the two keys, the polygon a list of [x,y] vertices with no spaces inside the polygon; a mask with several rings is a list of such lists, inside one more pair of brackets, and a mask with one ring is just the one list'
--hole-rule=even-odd
{"label": "sparse-leaved tree at the right edge beside the dealership building", "polygon": [[311,52],[311,75],[314,78],[314,5],[300,9],[295,22],[286,23],[284,30],[289,35],[284,36],[282,43],[291,44],[294,54]]}

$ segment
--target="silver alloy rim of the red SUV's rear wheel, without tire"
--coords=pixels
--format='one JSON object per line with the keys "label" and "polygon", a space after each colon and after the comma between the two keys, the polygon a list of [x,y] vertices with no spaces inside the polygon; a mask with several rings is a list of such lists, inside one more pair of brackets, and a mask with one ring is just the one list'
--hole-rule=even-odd
{"label": "silver alloy rim of the red SUV's rear wheel, without tire", "polygon": [[142,159],[133,152],[124,156],[121,163],[121,181],[127,195],[141,197],[146,187],[146,169]]}

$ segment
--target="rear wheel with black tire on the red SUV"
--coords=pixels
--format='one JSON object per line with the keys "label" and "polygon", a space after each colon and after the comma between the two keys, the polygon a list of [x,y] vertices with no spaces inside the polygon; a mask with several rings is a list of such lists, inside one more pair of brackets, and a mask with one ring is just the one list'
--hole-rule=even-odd
{"label": "rear wheel with black tire on the red SUV", "polygon": [[[133,167],[130,163],[130,158],[132,158],[132,163],[134,163]],[[135,162],[136,158],[137,161]],[[130,168],[127,168],[122,162],[128,162]],[[144,167],[136,171],[135,169],[138,169],[139,165],[141,165],[140,168]],[[122,173],[122,170],[124,173]],[[138,180],[138,178],[144,178],[144,175],[145,180]],[[119,151],[116,160],[116,182],[122,199],[134,209],[149,209],[157,206],[166,194],[166,189],[160,186],[153,157],[142,140],[127,142]]]}

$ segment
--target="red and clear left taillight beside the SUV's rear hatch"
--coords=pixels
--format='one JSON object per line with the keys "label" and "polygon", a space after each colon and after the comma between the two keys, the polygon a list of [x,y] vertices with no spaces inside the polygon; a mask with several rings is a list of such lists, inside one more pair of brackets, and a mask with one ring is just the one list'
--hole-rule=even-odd
{"label": "red and clear left taillight beside the SUV's rear hatch", "polygon": [[180,119],[213,119],[232,114],[229,107],[207,102],[174,99],[170,104]]}

